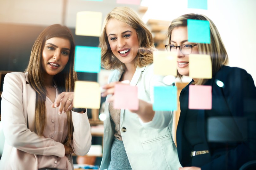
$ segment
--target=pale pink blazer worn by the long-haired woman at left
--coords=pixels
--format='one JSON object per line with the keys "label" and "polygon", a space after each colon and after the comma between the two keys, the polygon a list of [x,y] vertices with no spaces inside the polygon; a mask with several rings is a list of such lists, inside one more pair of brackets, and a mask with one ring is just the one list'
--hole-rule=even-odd
{"label": "pale pink blazer worn by the long-haired woman at left", "polygon": [[[28,83],[27,73],[12,72],[5,75],[1,102],[5,143],[0,160],[1,170],[36,170],[36,155],[65,156],[63,144],[34,133],[35,95]],[[91,127],[87,113],[72,111],[72,122],[72,149],[77,155],[85,155],[91,147]],[[67,169],[74,169],[72,159]]]}

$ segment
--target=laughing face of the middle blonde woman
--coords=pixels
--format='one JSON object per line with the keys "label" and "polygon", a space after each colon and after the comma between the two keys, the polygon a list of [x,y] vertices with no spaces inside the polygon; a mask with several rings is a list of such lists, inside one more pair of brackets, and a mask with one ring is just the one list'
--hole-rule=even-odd
{"label": "laughing face of the middle blonde woman", "polygon": [[106,34],[116,58],[126,66],[134,65],[139,48],[136,30],[125,22],[110,19],[106,25]]}

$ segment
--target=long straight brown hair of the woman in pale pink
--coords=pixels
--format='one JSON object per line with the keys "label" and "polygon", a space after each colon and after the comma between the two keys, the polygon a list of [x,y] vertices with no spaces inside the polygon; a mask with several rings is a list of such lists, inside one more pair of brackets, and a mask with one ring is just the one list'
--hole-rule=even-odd
{"label": "long straight brown hair of the woman in pale pink", "polygon": [[[71,92],[74,90],[77,74],[74,71],[74,50],[75,44],[71,31],[66,26],[59,24],[51,25],[45,28],[37,37],[29,59],[28,67],[25,72],[28,72],[28,81],[36,92],[35,102],[35,132],[42,135],[46,123],[46,94],[47,90],[44,84],[43,68],[41,64],[42,51],[46,40],[53,37],[61,37],[68,39],[71,44],[68,62],[65,68],[53,77],[53,81],[57,86],[59,93],[64,91]],[[68,120],[68,135],[64,144],[69,145],[72,140],[73,124],[71,111],[67,111]]]}

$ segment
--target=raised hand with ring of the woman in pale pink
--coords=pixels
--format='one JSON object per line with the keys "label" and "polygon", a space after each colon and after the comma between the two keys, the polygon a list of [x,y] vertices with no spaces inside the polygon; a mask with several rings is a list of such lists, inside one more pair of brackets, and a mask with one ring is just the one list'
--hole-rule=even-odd
{"label": "raised hand with ring of the woman in pale pink", "polygon": [[52,107],[59,107],[59,115],[73,108],[74,92],[62,92],[54,101]]}

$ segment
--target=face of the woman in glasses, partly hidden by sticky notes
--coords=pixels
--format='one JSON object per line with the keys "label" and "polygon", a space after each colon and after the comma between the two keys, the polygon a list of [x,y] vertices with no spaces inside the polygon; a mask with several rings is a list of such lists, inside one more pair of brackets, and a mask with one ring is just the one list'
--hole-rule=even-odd
{"label": "face of the woman in glasses, partly hidden by sticky notes", "polygon": [[[188,30],[186,26],[179,26],[172,30],[171,34],[171,42],[170,44],[173,44],[175,46],[180,46],[182,44],[190,44],[193,45],[195,43],[189,43],[188,42]],[[183,76],[189,76],[189,55],[184,55],[180,52],[180,48],[177,48],[176,50],[178,54],[178,72],[179,74]],[[197,46],[194,46],[192,48],[191,54],[199,54]]]}

